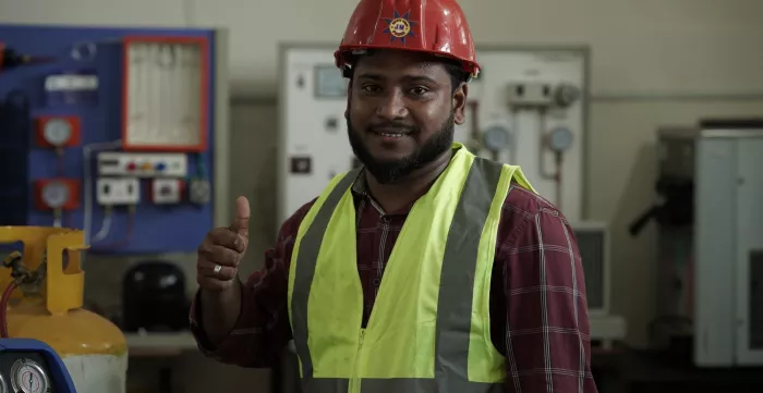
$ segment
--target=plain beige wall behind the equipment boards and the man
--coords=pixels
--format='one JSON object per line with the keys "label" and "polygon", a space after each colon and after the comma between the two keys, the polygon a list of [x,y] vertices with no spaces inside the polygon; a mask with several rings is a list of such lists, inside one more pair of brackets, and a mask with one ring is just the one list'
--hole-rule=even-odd
{"label": "plain beige wall behind the equipment boards and the man", "polygon": [[[250,269],[272,237],[278,41],[336,42],[355,0],[0,0],[0,22],[199,25],[231,32],[231,198],[262,224]],[[759,0],[463,0],[477,44],[592,48],[590,219],[611,224],[614,310],[642,345],[653,318],[654,231],[628,222],[652,201],[654,132],[710,115],[763,115]],[[253,174],[254,173],[254,174]]]}

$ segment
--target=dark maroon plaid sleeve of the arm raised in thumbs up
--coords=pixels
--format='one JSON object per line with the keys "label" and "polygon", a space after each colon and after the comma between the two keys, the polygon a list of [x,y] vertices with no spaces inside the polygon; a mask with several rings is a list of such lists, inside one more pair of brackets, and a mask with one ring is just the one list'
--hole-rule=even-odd
{"label": "dark maroon plaid sleeve of the arm raised in thumbs up", "polygon": [[283,223],[276,247],[265,253],[265,266],[242,283],[241,314],[233,330],[218,346],[207,339],[201,324],[199,293],[191,305],[191,332],[198,348],[221,363],[270,368],[291,340],[287,305],[289,265],[294,241],[310,206],[305,205]]}

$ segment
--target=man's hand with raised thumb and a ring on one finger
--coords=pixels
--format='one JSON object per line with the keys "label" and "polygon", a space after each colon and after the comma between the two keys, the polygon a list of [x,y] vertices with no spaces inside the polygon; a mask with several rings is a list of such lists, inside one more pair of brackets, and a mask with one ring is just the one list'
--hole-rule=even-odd
{"label": "man's hand with raised thumb and a ring on one finger", "polygon": [[196,282],[203,290],[222,292],[238,284],[239,262],[249,245],[249,200],[239,197],[233,223],[204,237],[196,259]]}

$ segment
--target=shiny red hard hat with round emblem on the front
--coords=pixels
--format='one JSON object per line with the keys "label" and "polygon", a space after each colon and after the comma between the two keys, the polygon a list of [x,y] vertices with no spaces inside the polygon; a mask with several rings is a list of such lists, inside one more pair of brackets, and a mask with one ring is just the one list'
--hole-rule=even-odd
{"label": "shiny red hard hat with round emblem on the front", "polygon": [[361,0],[334,53],[343,69],[349,54],[366,49],[399,49],[460,61],[476,76],[474,42],[456,0]]}

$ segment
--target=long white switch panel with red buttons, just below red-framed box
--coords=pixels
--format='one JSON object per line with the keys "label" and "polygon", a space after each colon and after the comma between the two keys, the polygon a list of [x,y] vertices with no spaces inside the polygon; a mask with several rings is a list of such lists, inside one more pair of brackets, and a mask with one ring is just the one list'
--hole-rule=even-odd
{"label": "long white switch panel with red buttons, just below red-framed box", "polygon": [[101,176],[185,177],[187,171],[187,156],[183,153],[98,153],[98,174]]}

